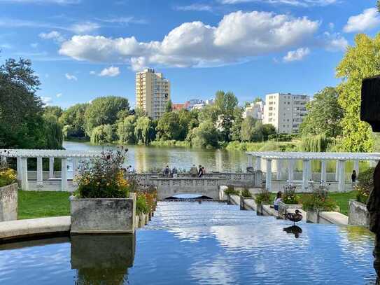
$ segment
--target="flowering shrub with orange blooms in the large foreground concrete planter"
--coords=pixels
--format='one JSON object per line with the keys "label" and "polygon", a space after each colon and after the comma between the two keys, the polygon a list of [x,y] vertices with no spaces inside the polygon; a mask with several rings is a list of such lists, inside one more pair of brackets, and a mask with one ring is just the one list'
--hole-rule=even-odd
{"label": "flowering shrub with orange blooms in the large foreground concrete planter", "polygon": [[129,182],[124,177],[122,163],[127,149],[103,151],[80,165],[75,181],[78,198],[126,198],[129,197]]}

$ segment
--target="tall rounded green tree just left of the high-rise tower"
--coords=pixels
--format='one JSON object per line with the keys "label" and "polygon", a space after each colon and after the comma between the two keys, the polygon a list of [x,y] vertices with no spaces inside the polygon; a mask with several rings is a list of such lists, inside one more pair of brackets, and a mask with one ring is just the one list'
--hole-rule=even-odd
{"label": "tall rounded green tree just left of the high-rise tower", "polygon": [[99,125],[113,125],[119,118],[119,112],[129,110],[128,99],[108,96],[94,99],[85,111],[85,130],[92,134],[92,129]]}

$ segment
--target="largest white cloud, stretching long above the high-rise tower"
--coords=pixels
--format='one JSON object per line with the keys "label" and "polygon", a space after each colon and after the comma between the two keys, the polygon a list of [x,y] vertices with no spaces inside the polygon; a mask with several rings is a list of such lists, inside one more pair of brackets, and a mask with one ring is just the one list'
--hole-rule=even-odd
{"label": "largest white cloud, stretching long above the high-rise tower", "polygon": [[162,41],[76,35],[62,43],[59,54],[91,62],[205,67],[246,61],[251,57],[297,48],[312,39],[320,23],[308,18],[253,11],[225,15],[216,27],[185,22]]}

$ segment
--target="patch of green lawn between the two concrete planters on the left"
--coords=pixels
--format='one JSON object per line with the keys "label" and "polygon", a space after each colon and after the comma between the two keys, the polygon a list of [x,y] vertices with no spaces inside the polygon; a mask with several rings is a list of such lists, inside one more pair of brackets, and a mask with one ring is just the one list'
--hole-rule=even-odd
{"label": "patch of green lawn between the two concrete planters on the left", "polygon": [[69,216],[69,192],[18,191],[18,219]]}

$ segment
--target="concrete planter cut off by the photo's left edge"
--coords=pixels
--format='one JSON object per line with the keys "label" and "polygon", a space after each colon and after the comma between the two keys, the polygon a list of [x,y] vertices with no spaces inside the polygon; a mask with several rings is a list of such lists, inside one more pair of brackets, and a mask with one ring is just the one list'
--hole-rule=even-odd
{"label": "concrete planter cut off by the photo's left edge", "polygon": [[0,188],[0,222],[17,220],[17,183]]}

